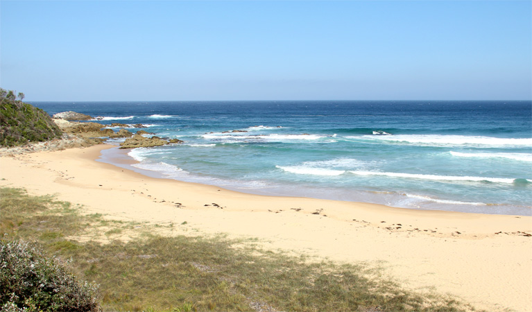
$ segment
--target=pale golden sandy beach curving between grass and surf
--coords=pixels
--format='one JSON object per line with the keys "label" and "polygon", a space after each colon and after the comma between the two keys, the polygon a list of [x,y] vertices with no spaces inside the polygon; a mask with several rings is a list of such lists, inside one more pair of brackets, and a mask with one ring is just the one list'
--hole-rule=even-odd
{"label": "pale golden sandy beach curving between grass and surf", "polygon": [[264,248],[365,261],[405,288],[449,294],[477,309],[532,311],[530,216],[239,193],[96,162],[105,148],[116,147],[3,155],[0,185],[55,194],[106,218],[187,222],[173,234],[225,233],[258,238]]}

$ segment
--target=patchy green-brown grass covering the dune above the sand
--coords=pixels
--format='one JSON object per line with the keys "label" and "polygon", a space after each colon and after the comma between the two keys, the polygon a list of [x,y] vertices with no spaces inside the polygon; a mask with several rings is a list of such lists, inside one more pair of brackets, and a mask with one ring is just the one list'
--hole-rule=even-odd
{"label": "patchy green-brown grass covering the dune above the sand", "polygon": [[83,216],[79,207],[21,189],[0,189],[0,198],[1,232],[39,241],[76,275],[96,281],[104,311],[473,310],[452,298],[404,291],[367,265],[289,257],[252,240],[165,237],[144,226],[128,242],[80,243],[76,237],[98,227],[112,239],[132,226]]}

